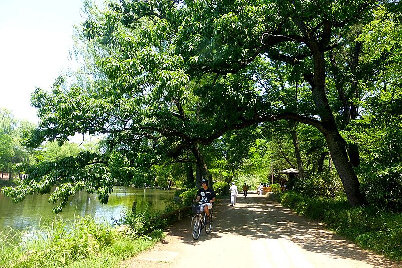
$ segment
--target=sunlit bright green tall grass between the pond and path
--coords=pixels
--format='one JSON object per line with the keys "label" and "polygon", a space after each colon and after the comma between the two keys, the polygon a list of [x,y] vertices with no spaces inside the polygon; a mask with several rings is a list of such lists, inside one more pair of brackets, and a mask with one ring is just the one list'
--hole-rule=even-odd
{"label": "sunlit bright green tall grass between the pond and path", "polygon": [[116,267],[163,238],[114,228],[92,217],[56,218],[38,230],[9,230],[0,237],[0,267]]}

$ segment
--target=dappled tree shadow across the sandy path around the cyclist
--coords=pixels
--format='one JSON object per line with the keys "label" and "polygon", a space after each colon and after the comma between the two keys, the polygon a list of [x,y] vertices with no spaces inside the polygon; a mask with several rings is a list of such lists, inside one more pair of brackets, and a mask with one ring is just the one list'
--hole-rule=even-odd
{"label": "dappled tree shadow across the sandy path around the cyclist", "polygon": [[207,235],[202,230],[196,241],[189,231],[190,221],[191,218],[182,220],[168,234],[179,237],[182,243],[194,246],[206,240],[225,237],[225,234],[241,235],[252,240],[286,239],[306,251],[333,258],[363,261],[379,267],[402,266],[360,249],[352,242],[325,230],[322,224],[298,216],[265,196],[250,194],[246,198],[238,197],[233,207],[229,205],[229,200],[220,200],[214,206],[212,232]]}

